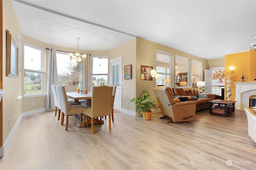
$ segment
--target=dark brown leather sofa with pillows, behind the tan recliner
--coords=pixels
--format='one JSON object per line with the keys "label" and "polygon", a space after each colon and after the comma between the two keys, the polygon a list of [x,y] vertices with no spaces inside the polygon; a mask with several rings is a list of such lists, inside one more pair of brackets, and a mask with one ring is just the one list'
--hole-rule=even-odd
{"label": "dark brown leather sofa with pillows, behind the tan recliner", "polygon": [[[180,87],[180,88],[170,88],[166,87],[168,93],[174,97],[186,96],[186,101],[196,101],[196,111],[202,109],[208,109],[210,104],[207,101],[212,101],[212,95],[207,94],[207,98],[198,98],[198,90],[192,87]],[[195,96],[195,97],[194,97]],[[196,99],[196,97],[198,99]]]}

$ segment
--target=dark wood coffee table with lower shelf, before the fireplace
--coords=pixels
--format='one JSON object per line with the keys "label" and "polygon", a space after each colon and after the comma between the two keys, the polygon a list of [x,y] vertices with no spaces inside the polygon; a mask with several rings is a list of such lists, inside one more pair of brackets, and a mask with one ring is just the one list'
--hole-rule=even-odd
{"label": "dark wood coffee table with lower shelf, before the fireplace", "polygon": [[[208,101],[210,103],[210,114],[228,117],[232,113],[235,113],[235,103],[236,101],[231,100],[212,100]],[[217,104],[217,105],[214,105]]]}

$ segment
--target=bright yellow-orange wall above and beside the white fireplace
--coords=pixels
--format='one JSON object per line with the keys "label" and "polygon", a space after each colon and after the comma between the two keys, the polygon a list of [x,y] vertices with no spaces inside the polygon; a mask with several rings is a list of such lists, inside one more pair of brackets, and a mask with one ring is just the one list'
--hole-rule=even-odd
{"label": "bright yellow-orange wall above and beside the white fireplace", "polygon": [[[233,66],[234,73],[230,73],[230,66]],[[245,82],[252,82],[256,78],[256,53],[254,49],[242,53],[234,53],[225,55],[225,77],[230,75],[233,82],[241,82],[241,77],[245,75]],[[225,81],[225,91],[227,91],[228,83]],[[234,83],[230,84],[231,87],[231,97],[230,100],[236,99],[236,85]],[[225,93],[225,99],[227,94]]]}

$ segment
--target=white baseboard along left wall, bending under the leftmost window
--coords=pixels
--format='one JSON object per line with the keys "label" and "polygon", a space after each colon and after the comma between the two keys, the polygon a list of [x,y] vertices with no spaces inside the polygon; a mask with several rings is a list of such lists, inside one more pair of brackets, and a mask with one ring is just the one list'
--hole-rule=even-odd
{"label": "white baseboard along left wall, bending under the leftmost window", "polygon": [[41,108],[41,109],[36,109],[33,111],[28,111],[28,112],[23,112],[20,117],[18,118],[18,120],[16,121],[14,127],[12,128],[12,131],[10,132],[8,138],[6,139],[6,141],[4,142],[3,146],[0,148],[0,157],[4,156],[4,153],[6,152],[6,150],[8,149],[8,146],[10,145],[10,142],[12,141],[12,138],[17,130],[17,128],[20,125],[20,121],[22,120],[22,117],[26,117],[26,116],[30,116],[30,115],[34,115],[36,113],[41,113],[47,111],[45,108]]}

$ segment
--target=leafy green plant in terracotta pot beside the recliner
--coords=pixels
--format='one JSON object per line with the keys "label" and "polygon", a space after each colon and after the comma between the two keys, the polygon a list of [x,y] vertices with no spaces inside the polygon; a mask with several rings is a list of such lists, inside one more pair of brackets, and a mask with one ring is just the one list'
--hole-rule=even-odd
{"label": "leafy green plant in terracotta pot beside the recliner", "polygon": [[144,120],[150,120],[151,119],[151,111],[150,108],[154,107],[156,105],[156,101],[150,102],[150,99],[152,99],[152,96],[148,93],[148,91],[142,91],[142,98],[141,97],[134,97],[131,102],[134,102],[135,106],[137,107],[137,111],[140,114],[140,112],[143,112],[143,118]]}

